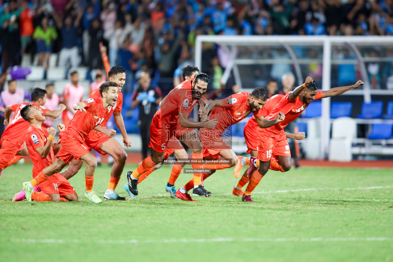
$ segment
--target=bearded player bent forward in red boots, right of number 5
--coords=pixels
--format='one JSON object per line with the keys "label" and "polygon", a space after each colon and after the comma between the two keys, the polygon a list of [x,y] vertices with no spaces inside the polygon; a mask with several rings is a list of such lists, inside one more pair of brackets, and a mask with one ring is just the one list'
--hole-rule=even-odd
{"label": "bearded player bent forward in red boots, right of number 5", "polygon": [[[224,130],[230,125],[238,123],[244,119],[250,113],[253,113],[257,124],[260,128],[267,128],[280,123],[284,120],[283,114],[277,114],[275,119],[266,120],[262,116],[262,107],[268,100],[268,94],[266,90],[262,87],[255,88],[252,93],[240,92],[225,99],[211,101],[208,103],[208,111],[212,108],[209,117],[217,119],[218,123],[213,130],[208,130],[206,128],[201,128],[199,130],[202,146],[203,146],[203,156],[209,158],[218,159],[220,156],[224,159],[228,159],[229,163],[214,163],[214,164],[204,164],[203,169],[211,169],[213,174],[215,170],[226,169],[233,167],[237,163],[237,156],[233,152],[232,148],[224,141],[222,134]],[[203,179],[208,178],[211,174],[203,174]],[[190,201],[187,191],[191,189],[192,181],[189,181],[184,187],[179,189],[175,196],[181,200]],[[205,194],[197,194],[198,196],[210,196],[211,192],[206,192]]]}

